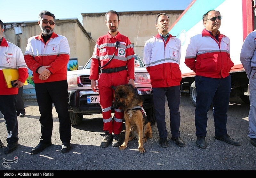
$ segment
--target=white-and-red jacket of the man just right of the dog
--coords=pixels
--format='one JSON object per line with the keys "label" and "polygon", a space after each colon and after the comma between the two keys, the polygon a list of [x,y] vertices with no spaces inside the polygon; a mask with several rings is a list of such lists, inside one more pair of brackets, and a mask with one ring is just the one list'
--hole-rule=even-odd
{"label": "white-and-red jacket of the man just right of the dog", "polygon": [[143,61],[153,88],[180,85],[180,48],[180,39],[171,34],[166,42],[159,34],[146,41]]}

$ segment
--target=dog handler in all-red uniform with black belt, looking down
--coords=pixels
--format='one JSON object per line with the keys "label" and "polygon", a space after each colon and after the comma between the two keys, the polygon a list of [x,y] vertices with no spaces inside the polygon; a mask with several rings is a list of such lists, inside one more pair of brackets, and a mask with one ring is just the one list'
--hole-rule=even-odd
{"label": "dog handler in all-red uniform with black belt, looking down", "polygon": [[[132,84],[134,87],[134,50],[128,37],[121,35],[117,29],[119,26],[119,13],[108,11],[106,13],[106,25],[108,33],[100,36],[96,42],[92,55],[92,65],[90,72],[91,88],[96,92],[96,80],[98,80],[100,105],[102,108],[103,130],[105,136],[100,144],[107,147],[112,141],[112,146],[121,145],[120,133],[124,111],[115,109],[114,120],[112,122],[111,106],[114,99],[114,90],[111,86]],[[116,42],[119,46],[115,46]],[[114,55],[111,62],[108,61]],[[99,63],[104,66],[99,75]],[[114,135],[112,135],[114,133]]]}

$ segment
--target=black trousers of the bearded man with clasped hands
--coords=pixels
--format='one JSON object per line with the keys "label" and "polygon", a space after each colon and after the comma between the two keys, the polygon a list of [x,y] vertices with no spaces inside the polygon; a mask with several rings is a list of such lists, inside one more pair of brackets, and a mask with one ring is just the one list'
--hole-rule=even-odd
{"label": "black trousers of the bearded man with clasped hands", "polygon": [[60,140],[70,142],[71,122],[68,114],[68,83],[64,81],[53,81],[46,83],[35,83],[36,100],[39,106],[41,139],[40,143],[51,143],[52,141],[52,103],[58,113],[60,122]]}

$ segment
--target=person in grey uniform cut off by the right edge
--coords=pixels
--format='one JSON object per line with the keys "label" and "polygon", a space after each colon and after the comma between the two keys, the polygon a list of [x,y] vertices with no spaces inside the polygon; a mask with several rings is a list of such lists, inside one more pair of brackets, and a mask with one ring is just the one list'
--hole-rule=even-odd
{"label": "person in grey uniform cut off by the right edge", "polygon": [[[256,11],[254,11],[254,15]],[[241,49],[240,61],[249,79],[250,111],[248,115],[249,133],[252,145],[256,146],[256,30],[251,32],[244,40]]]}

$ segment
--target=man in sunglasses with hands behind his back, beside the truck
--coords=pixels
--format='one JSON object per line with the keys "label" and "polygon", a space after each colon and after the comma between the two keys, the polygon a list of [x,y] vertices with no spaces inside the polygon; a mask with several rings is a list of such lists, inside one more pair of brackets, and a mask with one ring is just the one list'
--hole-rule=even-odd
{"label": "man in sunglasses with hands behind his back, beside the truck", "polygon": [[205,136],[207,112],[213,104],[215,136],[232,145],[240,143],[227,134],[227,111],[231,92],[231,76],[234,63],[230,59],[229,38],[220,34],[219,11],[211,10],[203,15],[205,29],[190,39],[185,64],[196,73],[196,146],[206,148]]}

